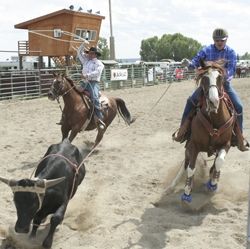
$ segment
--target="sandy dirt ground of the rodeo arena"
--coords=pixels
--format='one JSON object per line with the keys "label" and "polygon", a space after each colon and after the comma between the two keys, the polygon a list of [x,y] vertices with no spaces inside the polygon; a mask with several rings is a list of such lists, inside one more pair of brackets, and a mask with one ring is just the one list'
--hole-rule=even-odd
{"label": "sandy dirt ground of the rodeo arena", "polygon": [[[244,131],[250,139],[250,79],[233,79],[232,84],[244,104]],[[56,230],[53,249],[246,248],[250,152],[230,149],[213,195],[203,186],[213,157],[201,154],[194,207],[184,208],[184,178],[169,188],[184,159],[184,145],[173,142],[171,134],[195,82],[168,86],[105,92],[123,98],[137,119],[127,127],[116,117],[86,159],[85,179]],[[44,97],[2,101],[0,108],[0,175],[30,177],[47,148],[61,140],[58,104]],[[82,132],[73,144],[85,151],[95,135]],[[40,248],[48,228],[41,226],[34,240],[15,235],[13,194],[0,184],[0,248]]]}

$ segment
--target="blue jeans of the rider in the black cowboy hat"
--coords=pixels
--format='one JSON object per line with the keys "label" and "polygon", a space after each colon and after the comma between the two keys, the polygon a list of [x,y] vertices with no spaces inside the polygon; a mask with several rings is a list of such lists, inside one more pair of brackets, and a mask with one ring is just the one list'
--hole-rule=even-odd
{"label": "blue jeans of the rider in the black cowboy hat", "polygon": [[80,85],[90,93],[90,98],[95,107],[95,114],[99,119],[103,120],[103,114],[101,112],[101,105],[99,101],[99,83],[97,81],[91,81],[91,83],[80,81]]}

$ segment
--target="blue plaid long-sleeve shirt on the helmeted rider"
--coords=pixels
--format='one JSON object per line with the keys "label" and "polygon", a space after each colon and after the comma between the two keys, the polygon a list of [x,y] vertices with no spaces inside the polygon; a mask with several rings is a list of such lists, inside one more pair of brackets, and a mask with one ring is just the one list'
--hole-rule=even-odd
{"label": "blue plaid long-sleeve shirt on the helmeted rider", "polygon": [[231,79],[234,77],[237,57],[235,51],[229,46],[226,45],[222,50],[218,50],[214,44],[202,48],[191,60],[189,67],[200,67],[200,59],[204,59],[205,61],[216,61],[224,59],[226,61],[226,81],[231,81]]}

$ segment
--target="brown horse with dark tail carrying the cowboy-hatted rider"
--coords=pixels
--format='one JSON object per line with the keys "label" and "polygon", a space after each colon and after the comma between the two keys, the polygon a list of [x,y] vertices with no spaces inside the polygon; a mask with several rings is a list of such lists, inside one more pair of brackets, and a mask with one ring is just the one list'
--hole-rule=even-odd
{"label": "brown horse with dark tail carrying the cowboy-hatted rider", "polygon": [[48,92],[48,98],[50,100],[58,100],[60,96],[63,97],[62,140],[69,135],[68,138],[72,142],[78,132],[97,128],[98,133],[94,144],[95,147],[103,138],[103,134],[115,118],[117,111],[128,125],[134,121],[131,118],[124,100],[121,98],[101,96],[100,102],[104,103],[102,104],[103,121],[106,127],[104,130],[100,129],[97,126],[93,104],[87,95],[79,92],[77,89],[78,87],[76,87],[74,82],[68,77],[54,74],[54,81]]}

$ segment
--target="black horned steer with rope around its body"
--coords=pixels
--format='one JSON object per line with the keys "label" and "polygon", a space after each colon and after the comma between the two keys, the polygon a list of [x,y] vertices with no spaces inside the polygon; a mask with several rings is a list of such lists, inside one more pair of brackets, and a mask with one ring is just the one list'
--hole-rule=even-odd
{"label": "black horned steer with rope around its body", "polygon": [[49,147],[37,166],[35,179],[8,180],[0,177],[14,193],[17,233],[28,233],[33,221],[30,236],[36,236],[42,220],[52,214],[43,247],[52,246],[55,229],[62,222],[68,202],[85,176],[82,160],[77,147],[65,139]]}

